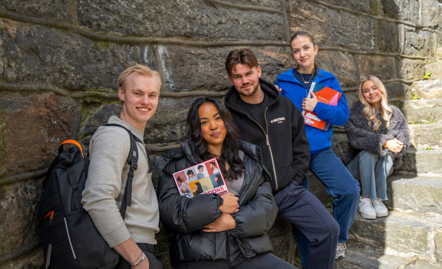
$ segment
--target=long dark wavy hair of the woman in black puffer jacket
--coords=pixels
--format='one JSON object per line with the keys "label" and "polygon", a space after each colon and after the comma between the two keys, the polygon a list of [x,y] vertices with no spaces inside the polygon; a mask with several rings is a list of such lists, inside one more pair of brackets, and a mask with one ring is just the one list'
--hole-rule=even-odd
{"label": "long dark wavy hair of the woman in black puffer jacket", "polygon": [[[203,103],[213,103],[213,105],[218,108],[220,117],[222,121],[224,121],[224,126],[226,126],[227,129],[227,135],[224,139],[224,143],[222,143],[222,152],[220,157],[213,156],[209,152],[207,142],[202,137],[200,117],[198,117],[198,108],[200,108]],[[202,97],[196,99],[189,109],[186,122],[186,133],[189,135],[189,138],[195,145],[195,155],[204,161],[216,157],[218,159],[218,163],[220,164],[221,172],[222,175],[224,175],[224,178],[228,180],[238,179],[238,176],[240,176],[244,171],[244,163],[242,163],[239,156],[240,146],[238,145],[237,141],[238,131],[233,125],[232,116],[229,110],[227,110],[221,101],[212,97]],[[227,161],[227,163],[230,165],[229,171],[226,171],[225,161]]]}

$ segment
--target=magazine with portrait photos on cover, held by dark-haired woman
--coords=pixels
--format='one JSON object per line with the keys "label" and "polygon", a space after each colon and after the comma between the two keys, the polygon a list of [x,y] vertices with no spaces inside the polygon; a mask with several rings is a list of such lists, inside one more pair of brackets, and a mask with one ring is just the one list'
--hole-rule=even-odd
{"label": "magazine with portrait photos on cover, held by dark-haired woman", "polygon": [[223,195],[229,189],[220,171],[218,161],[213,158],[174,172],[173,179],[181,196],[191,198],[200,193]]}

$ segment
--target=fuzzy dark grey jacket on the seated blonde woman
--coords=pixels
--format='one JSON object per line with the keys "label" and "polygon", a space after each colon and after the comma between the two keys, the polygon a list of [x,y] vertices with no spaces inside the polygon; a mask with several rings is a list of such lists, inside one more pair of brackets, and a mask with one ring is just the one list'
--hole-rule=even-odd
{"label": "fuzzy dark grey jacket on the seated blonde woman", "polygon": [[[365,150],[381,157],[387,154],[393,155],[395,158],[394,168],[397,168],[401,165],[402,157],[410,146],[407,120],[401,110],[395,106],[390,106],[393,112],[390,119],[390,128],[387,129],[385,121],[377,116],[381,120],[381,126],[376,132],[373,132],[363,114],[363,108],[364,105],[361,101],[355,101],[350,108],[350,117],[347,124],[345,124],[349,143],[345,162],[349,163],[361,150]],[[399,153],[393,153],[387,148],[383,148],[385,141],[395,137],[403,142],[403,150]]]}

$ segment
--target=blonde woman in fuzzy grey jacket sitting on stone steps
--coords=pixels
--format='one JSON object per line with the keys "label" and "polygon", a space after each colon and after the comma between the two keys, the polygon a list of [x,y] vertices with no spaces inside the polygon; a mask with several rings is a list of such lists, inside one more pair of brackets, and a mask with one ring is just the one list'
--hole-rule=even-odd
{"label": "blonde woman in fuzzy grey jacket sitting on stone steps", "polygon": [[[345,124],[349,150],[347,168],[361,181],[358,211],[365,219],[385,217],[388,210],[387,177],[410,145],[407,120],[401,110],[389,106],[381,80],[368,76],[359,85],[359,101],[352,104]],[[393,166],[394,165],[394,166]]]}

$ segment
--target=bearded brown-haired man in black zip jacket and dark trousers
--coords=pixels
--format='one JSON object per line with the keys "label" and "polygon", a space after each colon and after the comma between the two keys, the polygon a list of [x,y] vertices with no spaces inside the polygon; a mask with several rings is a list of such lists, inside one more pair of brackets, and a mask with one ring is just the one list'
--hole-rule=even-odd
{"label": "bearded brown-haired man in black zip jacket and dark trousers", "polygon": [[339,226],[327,208],[301,186],[309,168],[309,142],[298,108],[260,79],[261,68],[249,49],[232,50],[226,59],[232,87],[225,104],[240,137],[258,145],[279,214],[291,222],[303,268],[334,268]]}

